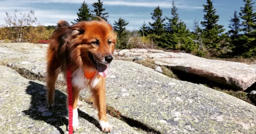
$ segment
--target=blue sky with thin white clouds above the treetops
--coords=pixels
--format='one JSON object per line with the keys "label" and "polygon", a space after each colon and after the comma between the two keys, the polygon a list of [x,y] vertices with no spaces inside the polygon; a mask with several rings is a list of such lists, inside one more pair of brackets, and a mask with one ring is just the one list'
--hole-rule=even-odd
{"label": "blue sky with thin white clouds above the treetops", "polygon": [[[0,0],[0,24],[4,24],[5,12],[28,13],[35,12],[35,16],[43,25],[56,25],[58,20],[65,19],[68,22],[77,18],[78,8],[84,0]],[[92,3],[98,0],[86,0],[89,8],[93,10]],[[106,12],[109,12],[108,21],[113,25],[119,17],[125,19],[129,24],[128,30],[139,29],[142,23],[148,25],[152,22],[151,14],[158,5],[163,10],[163,15],[171,17],[172,0],[101,0]],[[203,4],[207,0],[174,0],[177,13],[187,27],[193,26],[193,20],[203,21]],[[255,2],[253,0],[253,2]],[[243,0],[214,0],[213,5],[220,16],[219,24],[229,30],[228,25],[234,10],[240,12],[240,7],[244,6]]]}

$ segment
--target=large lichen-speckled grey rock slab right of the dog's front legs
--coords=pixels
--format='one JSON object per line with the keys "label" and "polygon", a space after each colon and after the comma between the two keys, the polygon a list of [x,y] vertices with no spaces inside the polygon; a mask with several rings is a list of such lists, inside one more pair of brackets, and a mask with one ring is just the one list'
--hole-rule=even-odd
{"label": "large lichen-speckled grey rock slab right of the dog's front legs", "polygon": [[256,107],[225,93],[115,60],[107,103],[161,134],[254,134]]}

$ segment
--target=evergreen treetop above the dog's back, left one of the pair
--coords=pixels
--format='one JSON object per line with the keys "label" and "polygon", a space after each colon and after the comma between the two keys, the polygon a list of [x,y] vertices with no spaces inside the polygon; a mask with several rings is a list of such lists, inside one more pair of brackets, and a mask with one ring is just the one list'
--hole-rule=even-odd
{"label": "evergreen treetop above the dog's back, left one of the pair", "polygon": [[79,21],[87,21],[92,19],[92,14],[90,11],[90,8],[88,8],[87,3],[85,1],[82,3],[81,7],[78,9],[77,19],[74,19],[74,21],[79,22]]}

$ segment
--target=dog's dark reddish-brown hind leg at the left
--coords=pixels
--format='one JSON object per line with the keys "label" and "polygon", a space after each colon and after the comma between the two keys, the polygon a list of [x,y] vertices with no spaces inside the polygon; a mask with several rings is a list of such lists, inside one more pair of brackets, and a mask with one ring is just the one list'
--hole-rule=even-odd
{"label": "dog's dark reddish-brown hind leg at the left", "polygon": [[47,70],[46,70],[46,87],[47,87],[47,102],[46,107],[54,106],[55,82],[59,74],[59,63],[54,57],[54,51],[47,51]]}

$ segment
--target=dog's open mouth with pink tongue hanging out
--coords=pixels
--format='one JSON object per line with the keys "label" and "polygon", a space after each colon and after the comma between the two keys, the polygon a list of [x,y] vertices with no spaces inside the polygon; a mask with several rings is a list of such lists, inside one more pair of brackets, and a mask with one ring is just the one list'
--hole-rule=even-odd
{"label": "dog's open mouth with pink tongue hanging out", "polygon": [[98,62],[94,56],[89,52],[89,58],[93,62],[95,69],[98,71],[98,73],[105,77],[108,75],[108,66],[106,64],[102,64]]}

